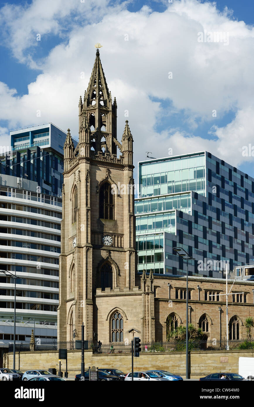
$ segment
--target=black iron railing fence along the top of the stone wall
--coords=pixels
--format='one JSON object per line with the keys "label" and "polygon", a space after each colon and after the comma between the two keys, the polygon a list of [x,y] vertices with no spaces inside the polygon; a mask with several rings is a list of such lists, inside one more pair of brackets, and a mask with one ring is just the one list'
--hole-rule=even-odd
{"label": "black iron railing fence along the top of the stone wall", "polygon": [[[109,344],[96,344],[92,339],[88,342],[86,349],[92,349],[93,353],[131,353],[131,343],[126,342],[112,342]],[[81,341],[53,341],[53,342],[39,342],[34,345],[30,343],[16,343],[16,352],[26,351],[43,351],[43,350],[59,350],[59,349],[81,349]],[[166,342],[142,342],[140,344],[141,352],[183,352],[186,350],[186,341],[171,339]],[[209,339],[201,341],[199,339],[189,340],[190,351],[206,351],[206,350],[254,350],[254,339],[230,339],[227,341],[223,339]],[[9,352],[13,352],[13,344],[9,344]]]}

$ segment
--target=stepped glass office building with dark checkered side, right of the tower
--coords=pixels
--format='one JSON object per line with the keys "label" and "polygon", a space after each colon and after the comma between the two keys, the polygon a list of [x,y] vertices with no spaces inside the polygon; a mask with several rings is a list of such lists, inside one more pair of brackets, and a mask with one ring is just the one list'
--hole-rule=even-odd
{"label": "stepped glass office building with dark checkered side, right of the tower", "polygon": [[195,258],[193,276],[253,262],[253,178],[207,151],[139,162],[138,171],[138,271],[185,275],[176,246]]}

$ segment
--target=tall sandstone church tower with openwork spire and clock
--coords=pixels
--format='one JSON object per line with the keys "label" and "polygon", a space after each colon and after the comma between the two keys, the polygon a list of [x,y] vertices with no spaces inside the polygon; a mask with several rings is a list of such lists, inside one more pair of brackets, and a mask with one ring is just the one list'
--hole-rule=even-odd
{"label": "tall sandstone church tower with openwork spire and clock", "polygon": [[83,322],[85,339],[98,334],[106,343],[124,341],[132,328],[142,337],[133,138],[126,120],[117,140],[116,111],[97,49],[88,89],[79,99],[79,144],[74,148],[70,129],[64,144],[58,340],[81,339]]}

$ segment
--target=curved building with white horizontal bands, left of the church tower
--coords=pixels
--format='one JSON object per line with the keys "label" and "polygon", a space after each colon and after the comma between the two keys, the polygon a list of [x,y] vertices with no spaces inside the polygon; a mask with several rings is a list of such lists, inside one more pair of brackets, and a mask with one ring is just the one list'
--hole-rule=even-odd
{"label": "curved building with white horizontal bands, left of the church tower", "polygon": [[[19,277],[16,322],[31,321],[38,327],[57,322],[62,199],[37,190],[37,182],[0,175],[0,269]],[[14,279],[0,272],[0,325],[13,315]],[[3,333],[0,329],[0,342],[6,343],[5,335],[10,342],[13,325],[8,325],[10,332],[6,325]],[[57,337],[52,332],[51,341]],[[16,335],[19,341],[18,328]]]}

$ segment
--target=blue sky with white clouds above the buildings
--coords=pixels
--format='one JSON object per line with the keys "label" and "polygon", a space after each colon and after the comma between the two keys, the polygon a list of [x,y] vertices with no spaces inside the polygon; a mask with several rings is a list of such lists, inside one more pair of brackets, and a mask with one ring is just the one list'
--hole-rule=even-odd
{"label": "blue sky with white clouds above the buildings", "polygon": [[[169,147],[173,155],[207,149],[254,176],[253,158],[241,154],[254,144],[253,1],[43,3],[44,9],[38,0],[1,4],[2,145],[9,130],[46,121],[70,127],[77,138],[77,100],[99,41],[119,101],[118,138],[127,109],[136,161],[147,150],[161,157]],[[203,30],[228,32],[229,45],[198,44]]]}

